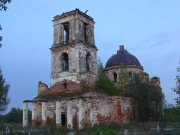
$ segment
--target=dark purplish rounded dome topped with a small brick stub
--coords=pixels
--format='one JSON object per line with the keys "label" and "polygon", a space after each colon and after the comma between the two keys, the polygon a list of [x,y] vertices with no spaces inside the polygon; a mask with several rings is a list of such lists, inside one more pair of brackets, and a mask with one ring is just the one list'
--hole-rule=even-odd
{"label": "dark purplish rounded dome topped with a small brick stub", "polygon": [[119,65],[137,66],[142,69],[142,66],[138,59],[134,55],[127,52],[127,50],[124,49],[123,45],[119,46],[117,54],[111,56],[108,59],[105,68]]}

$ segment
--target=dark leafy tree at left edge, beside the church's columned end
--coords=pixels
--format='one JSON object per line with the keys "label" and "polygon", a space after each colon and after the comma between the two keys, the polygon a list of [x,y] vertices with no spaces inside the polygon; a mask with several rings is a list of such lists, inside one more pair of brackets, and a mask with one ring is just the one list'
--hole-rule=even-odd
{"label": "dark leafy tree at left edge, beside the church's columned end", "polygon": [[10,99],[8,98],[10,85],[6,83],[3,77],[2,71],[0,69],[0,113],[5,111]]}

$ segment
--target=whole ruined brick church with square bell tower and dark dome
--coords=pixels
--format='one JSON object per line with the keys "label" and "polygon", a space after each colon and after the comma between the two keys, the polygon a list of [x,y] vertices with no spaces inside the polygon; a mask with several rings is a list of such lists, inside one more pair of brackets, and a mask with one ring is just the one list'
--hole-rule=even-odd
{"label": "whole ruined brick church with square bell tower and dark dome", "polygon": [[[136,119],[133,99],[100,94],[93,88],[98,51],[94,24],[93,18],[79,9],[54,17],[50,87],[39,82],[38,96],[23,102],[23,127],[28,126],[28,102],[32,103],[32,126],[56,123],[57,127],[81,129],[111,122],[131,123]],[[138,59],[121,45],[104,68],[104,74],[115,84],[122,64],[130,75],[139,73],[148,77]],[[160,86],[158,77],[151,81]],[[91,91],[82,93],[81,82],[92,86]]]}

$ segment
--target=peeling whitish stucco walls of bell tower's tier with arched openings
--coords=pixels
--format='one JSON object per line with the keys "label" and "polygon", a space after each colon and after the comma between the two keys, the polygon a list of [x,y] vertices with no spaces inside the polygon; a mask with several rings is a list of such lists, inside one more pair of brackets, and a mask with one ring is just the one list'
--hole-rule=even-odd
{"label": "peeling whitish stucco walls of bell tower's tier with arched openings", "polygon": [[[63,53],[67,53],[69,57],[69,70],[63,71],[61,57]],[[90,70],[86,70],[86,55],[90,54]],[[83,44],[76,44],[74,47],[65,46],[52,51],[51,65],[51,86],[63,80],[71,80],[80,83],[81,80],[89,79],[92,83],[97,75],[96,49],[88,48]],[[85,77],[86,76],[86,77]]]}

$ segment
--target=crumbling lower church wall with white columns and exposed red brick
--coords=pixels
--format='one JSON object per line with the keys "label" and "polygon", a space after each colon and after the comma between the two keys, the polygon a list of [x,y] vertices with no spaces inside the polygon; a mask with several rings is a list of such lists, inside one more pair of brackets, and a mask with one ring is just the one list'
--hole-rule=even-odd
{"label": "crumbling lower church wall with white columns and exposed red brick", "polygon": [[[66,115],[66,126],[92,126],[103,123],[130,123],[133,121],[133,101],[131,98],[105,96],[97,93],[86,93],[81,97],[63,98],[58,101],[34,101],[36,121],[41,125],[56,122],[62,125],[61,114]],[[39,106],[39,107],[38,107]],[[41,107],[40,107],[41,106]],[[41,115],[39,113],[42,113]],[[33,121],[34,123],[35,121]]]}

